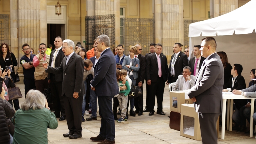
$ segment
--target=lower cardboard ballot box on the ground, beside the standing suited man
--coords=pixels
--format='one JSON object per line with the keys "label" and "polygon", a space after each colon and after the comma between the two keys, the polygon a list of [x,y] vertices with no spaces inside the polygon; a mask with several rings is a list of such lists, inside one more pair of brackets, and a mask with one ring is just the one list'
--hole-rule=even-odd
{"label": "lower cardboard ballot box on the ground, beside the standing suited man", "polygon": [[194,104],[181,105],[180,135],[194,140],[201,140],[201,131]]}

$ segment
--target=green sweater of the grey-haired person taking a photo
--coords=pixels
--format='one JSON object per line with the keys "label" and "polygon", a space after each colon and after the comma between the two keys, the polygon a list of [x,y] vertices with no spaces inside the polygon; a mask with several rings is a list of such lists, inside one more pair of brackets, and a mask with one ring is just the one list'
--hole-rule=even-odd
{"label": "green sweater of the grey-haired person taking a photo", "polygon": [[15,125],[13,144],[48,144],[47,128],[58,127],[55,114],[47,108],[17,110],[12,123]]}

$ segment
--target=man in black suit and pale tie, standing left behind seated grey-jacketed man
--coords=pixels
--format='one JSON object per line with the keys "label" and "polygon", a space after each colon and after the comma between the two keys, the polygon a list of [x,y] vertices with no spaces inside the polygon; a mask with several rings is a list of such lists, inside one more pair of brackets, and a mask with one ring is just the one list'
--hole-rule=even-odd
{"label": "man in black suit and pale tie, standing left behind seated grey-jacketed man", "polygon": [[185,66],[188,66],[187,55],[181,52],[181,44],[174,44],[174,54],[171,56],[169,74],[167,79],[167,85],[175,82],[179,75],[182,75],[182,70]]}

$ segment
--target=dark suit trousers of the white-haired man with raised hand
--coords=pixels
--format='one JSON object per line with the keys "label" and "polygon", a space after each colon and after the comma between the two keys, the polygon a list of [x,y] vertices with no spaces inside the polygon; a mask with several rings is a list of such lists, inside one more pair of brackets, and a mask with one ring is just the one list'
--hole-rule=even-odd
{"label": "dark suit trousers of the white-haired man with raised hand", "polygon": [[82,134],[82,96],[74,98],[64,94],[64,105],[69,132]]}

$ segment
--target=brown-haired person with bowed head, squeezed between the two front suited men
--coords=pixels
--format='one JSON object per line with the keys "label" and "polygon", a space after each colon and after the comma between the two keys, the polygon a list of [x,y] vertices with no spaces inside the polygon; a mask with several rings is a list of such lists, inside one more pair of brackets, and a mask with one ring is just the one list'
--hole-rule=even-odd
{"label": "brown-haired person with bowed head, squeezed between the two front suited men", "polygon": [[[84,85],[85,85],[85,91],[87,90],[86,88],[87,88],[87,82],[86,82],[86,78],[87,78],[87,76],[89,75],[89,74],[92,74],[92,76],[94,77],[94,68],[92,67],[93,66],[93,63],[91,62],[91,60],[89,60],[89,59],[86,59],[86,60],[84,60],[84,78],[83,78],[83,80],[84,80]],[[84,96],[83,96],[83,101],[82,101],[82,122],[84,122],[85,121],[85,119],[84,119],[84,113],[85,113],[85,115],[89,115],[89,112],[88,111],[86,111],[85,112],[85,105],[86,105],[86,101],[85,101],[85,96],[86,96],[86,94],[84,94]]]}

